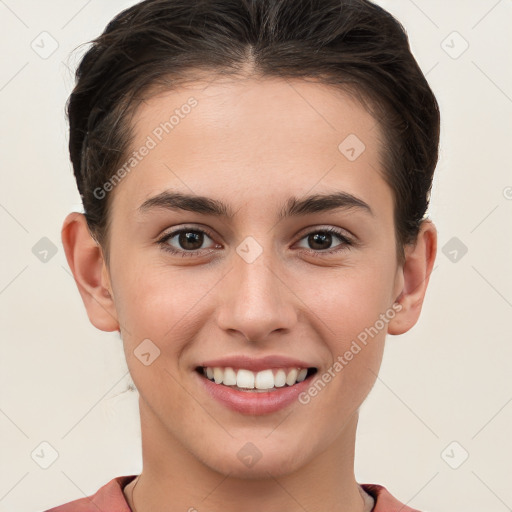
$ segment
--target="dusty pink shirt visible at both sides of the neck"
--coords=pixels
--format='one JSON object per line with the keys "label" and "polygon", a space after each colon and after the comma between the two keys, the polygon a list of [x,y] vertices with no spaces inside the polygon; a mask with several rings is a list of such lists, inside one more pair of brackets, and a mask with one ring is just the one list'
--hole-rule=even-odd
{"label": "dusty pink shirt visible at both sides of the neck", "polygon": [[[101,487],[96,494],[80,498],[46,512],[132,512],[123,494],[123,488],[137,475],[118,476]],[[372,512],[419,512],[406,507],[393,498],[385,487],[377,484],[360,484],[375,500]]]}

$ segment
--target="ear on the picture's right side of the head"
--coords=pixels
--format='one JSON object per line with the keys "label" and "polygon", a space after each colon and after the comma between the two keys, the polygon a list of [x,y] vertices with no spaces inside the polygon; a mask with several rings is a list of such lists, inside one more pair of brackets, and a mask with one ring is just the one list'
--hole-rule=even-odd
{"label": "ear on the picture's right side of the head", "polygon": [[416,242],[405,246],[403,283],[396,302],[400,311],[388,323],[389,334],[403,334],[418,321],[437,252],[437,230],[430,220],[421,224]]}

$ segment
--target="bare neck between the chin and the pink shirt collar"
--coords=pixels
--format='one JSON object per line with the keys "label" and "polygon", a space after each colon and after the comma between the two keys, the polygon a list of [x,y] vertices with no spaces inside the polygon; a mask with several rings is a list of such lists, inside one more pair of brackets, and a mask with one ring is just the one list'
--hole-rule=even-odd
{"label": "bare neck between the chin and the pink shirt collar", "polygon": [[[125,487],[136,512],[364,512],[354,477],[357,413],[333,443],[296,471],[259,478],[221,473],[198,460],[140,403],[143,471]],[[131,492],[136,484],[132,502]]]}

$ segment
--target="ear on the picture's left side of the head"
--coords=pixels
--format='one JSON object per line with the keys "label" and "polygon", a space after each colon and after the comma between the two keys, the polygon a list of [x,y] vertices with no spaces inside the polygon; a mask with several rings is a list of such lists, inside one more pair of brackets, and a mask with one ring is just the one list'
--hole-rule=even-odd
{"label": "ear on the picture's left side of the head", "polygon": [[85,216],[70,213],[62,225],[61,237],[89,320],[102,331],[118,331],[117,311],[103,251],[91,236]]}

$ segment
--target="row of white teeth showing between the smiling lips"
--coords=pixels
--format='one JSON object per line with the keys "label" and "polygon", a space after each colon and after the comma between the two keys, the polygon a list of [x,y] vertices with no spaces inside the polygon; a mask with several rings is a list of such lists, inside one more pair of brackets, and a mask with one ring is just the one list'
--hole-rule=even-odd
{"label": "row of white teeth showing between the smiling lips", "polygon": [[196,372],[215,384],[238,391],[264,393],[292,387],[312,377],[317,368],[268,368],[253,372],[245,368],[198,366]]}

